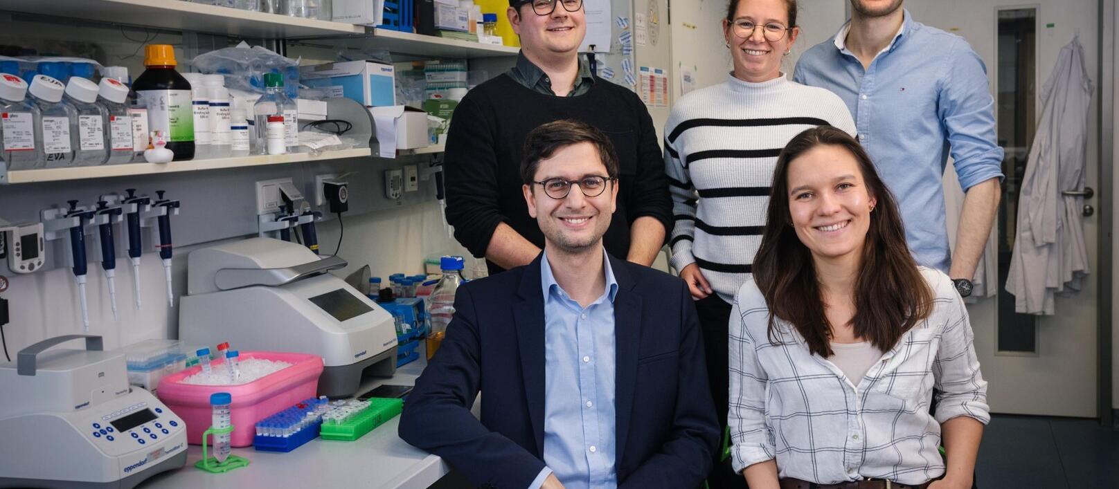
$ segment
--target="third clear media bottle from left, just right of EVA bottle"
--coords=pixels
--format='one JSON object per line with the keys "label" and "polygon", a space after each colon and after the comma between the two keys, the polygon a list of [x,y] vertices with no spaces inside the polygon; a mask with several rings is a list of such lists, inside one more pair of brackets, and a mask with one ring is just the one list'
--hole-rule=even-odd
{"label": "third clear media bottle from left, just right of EVA bottle", "polygon": [[77,166],[100,165],[109,160],[105,146],[107,111],[97,105],[97,85],[82,77],[70,77],[66,83],[66,99],[77,109],[70,119],[70,146]]}

